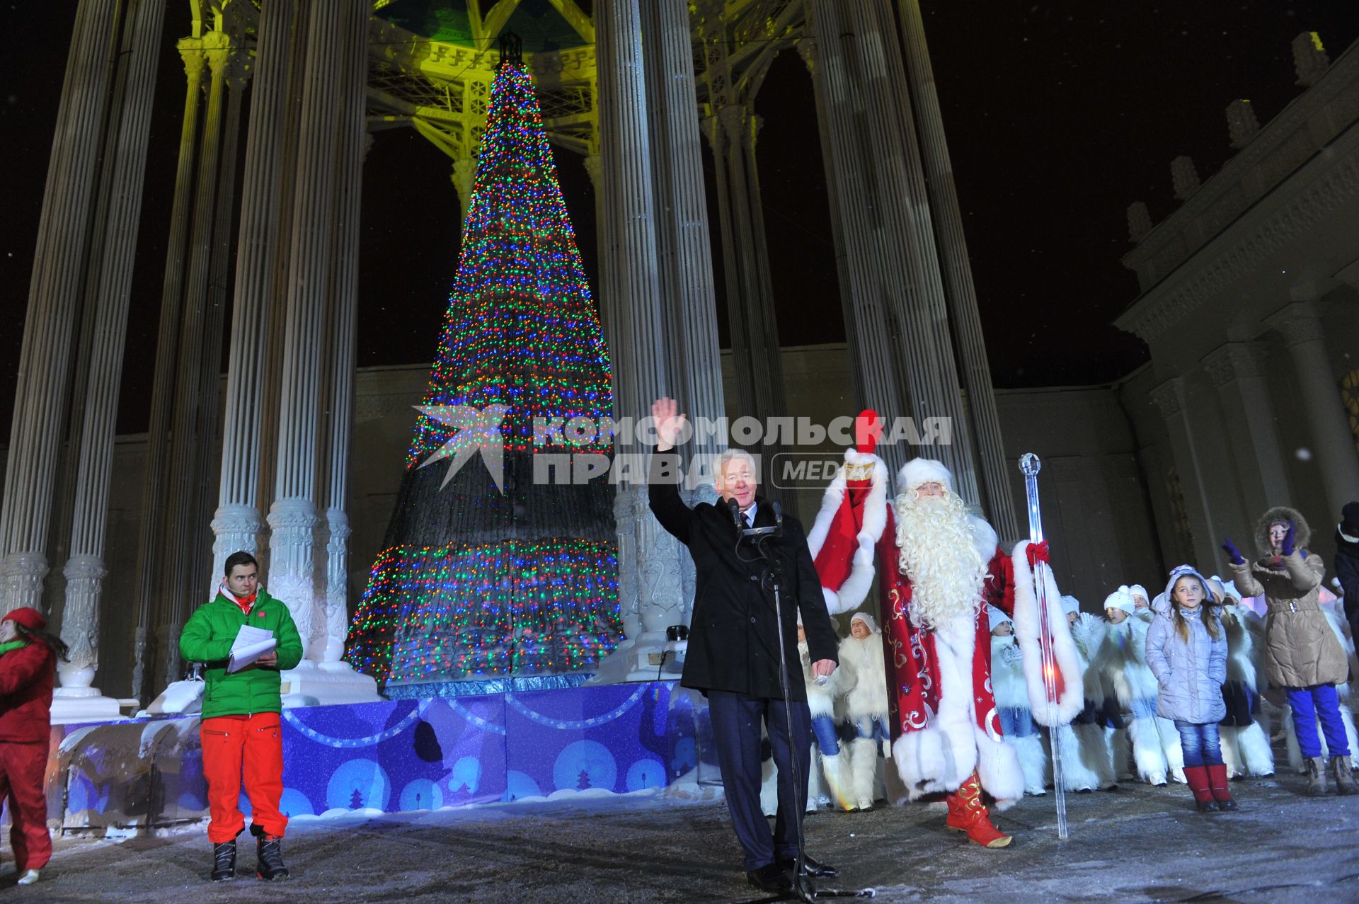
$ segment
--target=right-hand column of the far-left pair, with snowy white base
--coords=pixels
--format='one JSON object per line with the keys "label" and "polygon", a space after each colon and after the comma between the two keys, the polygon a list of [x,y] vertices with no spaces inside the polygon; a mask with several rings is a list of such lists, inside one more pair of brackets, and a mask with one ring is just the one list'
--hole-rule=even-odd
{"label": "right-hand column of the far-left pair, with snowy white base", "polygon": [[95,307],[94,348],[90,355],[88,397],[80,431],[80,466],[72,507],[71,557],[65,564],[67,594],[61,639],[69,659],[57,665],[61,686],[52,700],[53,722],[118,718],[118,701],[92,688],[99,665],[99,598],[107,570],[103,561],[113,470],[118,383],[122,377],[132,266],[141,220],[141,188],[151,137],[156,53],[164,23],[164,4],[144,0],[128,19],[129,53],[122,60],[118,132],[110,135],[107,226],[102,237],[99,272],[90,285]]}

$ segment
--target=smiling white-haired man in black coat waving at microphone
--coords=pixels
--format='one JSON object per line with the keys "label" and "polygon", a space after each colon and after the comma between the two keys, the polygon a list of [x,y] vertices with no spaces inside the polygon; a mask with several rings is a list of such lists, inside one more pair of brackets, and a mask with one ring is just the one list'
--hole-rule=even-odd
{"label": "smiling white-haired man in black coat waving at microphone", "polygon": [[[829,677],[836,669],[836,633],[802,525],[786,517],[783,536],[764,540],[781,572],[780,610],[791,701],[791,710],[786,710],[775,601],[764,579],[766,563],[756,542],[738,533],[728,500],[735,500],[742,519],[753,527],[772,527],[773,511],[756,496],[754,459],[741,450],[723,453],[718,461],[715,484],[722,496],[718,506],[684,504],[677,485],[678,455],[670,451],[685,424],[685,416],[677,411],[673,398],[660,398],[651,406],[659,442],[648,495],[656,521],[689,548],[696,571],[689,650],[680,684],[708,697],[722,787],[731,825],[745,850],[746,878],[756,888],[783,892],[791,885],[790,871],[798,856],[811,750],[811,716],[798,658],[798,613],[818,677]],[[779,814],[772,837],[760,810],[761,720],[768,726],[779,768]],[[790,756],[796,757],[802,778],[796,788],[790,779]],[[834,875],[832,867],[806,856],[803,869],[813,875]]]}

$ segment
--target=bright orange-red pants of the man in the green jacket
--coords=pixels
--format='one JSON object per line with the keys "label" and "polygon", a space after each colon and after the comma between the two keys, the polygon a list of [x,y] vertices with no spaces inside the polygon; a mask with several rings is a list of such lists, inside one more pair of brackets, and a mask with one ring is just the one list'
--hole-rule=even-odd
{"label": "bright orange-red pants of the man in the green jacket", "polygon": [[288,817],[279,812],[283,797],[283,731],[277,712],[251,716],[215,716],[198,729],[202,776],[208,779],[208,840],[230,841],[246,827],[241,779],[254,812],[250,821],[265,835],[281,836]]}

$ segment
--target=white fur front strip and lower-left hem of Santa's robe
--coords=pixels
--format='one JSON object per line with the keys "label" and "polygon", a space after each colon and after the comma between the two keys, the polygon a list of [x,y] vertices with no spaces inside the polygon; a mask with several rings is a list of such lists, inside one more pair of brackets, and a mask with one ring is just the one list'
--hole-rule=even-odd
{"label": "white fur front strip and lower-left hem of Santa's robe", "polygon": [[939,711],[925,727],[904,731],[892,745],[892,759],[912,799],[955,791],[977,768],[977,720],[972,706],[976,636],[970,616],[950,619],[934,631]]}

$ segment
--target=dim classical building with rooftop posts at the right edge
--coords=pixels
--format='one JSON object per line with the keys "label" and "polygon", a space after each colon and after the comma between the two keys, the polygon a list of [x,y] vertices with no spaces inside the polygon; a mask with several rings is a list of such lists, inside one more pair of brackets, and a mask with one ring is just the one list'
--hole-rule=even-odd
{"label": "dim classical building with rooftop posts at the right edge", "polygon": [[1263,126],[1233,101],[1235,156],[1201,184],[1177,158],[1182,203],[1155,226],[1129,208],[1142,292],[1117,325],[1151,363],[1120,398],[1165,553],[1218,572],[1222,538],[1249,551],[1277,504],[1329,563],[1359,499],[1359,45],[1332,61],[1305,33],[1292,50],[1303,92]]}

